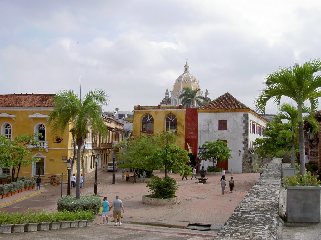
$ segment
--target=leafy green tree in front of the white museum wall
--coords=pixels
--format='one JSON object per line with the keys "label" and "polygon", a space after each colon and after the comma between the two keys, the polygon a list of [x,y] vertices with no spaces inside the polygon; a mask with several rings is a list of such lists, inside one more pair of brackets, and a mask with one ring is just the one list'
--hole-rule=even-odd
{"label": "leafy green tree in front of the white museum wall", "polygon": [[[207,148],[207,152],[204,154],[205,159],[212,159],[212,164],[217,162],[226,162],[229,158],[232,158],[230,154],[231,149],[227,147],[227,143],[218,139],[217,141],[209,142],[205,141],[202,147]],[[216,165],[216,164],[215,164]]]}

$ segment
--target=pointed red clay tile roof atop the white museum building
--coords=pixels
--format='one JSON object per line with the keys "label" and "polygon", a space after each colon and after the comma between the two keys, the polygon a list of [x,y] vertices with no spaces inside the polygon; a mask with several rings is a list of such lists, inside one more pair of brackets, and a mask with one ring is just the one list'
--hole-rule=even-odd
{"label": "pointed red clay tile roof atop the white museum building", "polygon": [[249,107],[245,106],[230,93],[226,92],[222,96],[198,109],[249,109]]}

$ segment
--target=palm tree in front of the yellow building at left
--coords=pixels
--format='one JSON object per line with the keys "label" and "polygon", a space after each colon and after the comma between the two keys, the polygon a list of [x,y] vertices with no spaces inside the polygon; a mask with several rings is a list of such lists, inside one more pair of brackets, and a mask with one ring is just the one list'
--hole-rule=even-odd
{"label": "palm tree in front of the yellow building at left", "polygon": [[[93,90],[82,100],[74,91],[60,90],[54,97],[55,109],[50,113],[48,122],[52,123],[54,133],[72,133],[77,144],[77,182],[80,180],[81,148],[88,133],[90,123],[93,132],[106,135],[107,129],[100,116],[99,104],[107,104],[108,95],[104,90]],[[80,199],[80,184],[76,186],[76,198]]]}

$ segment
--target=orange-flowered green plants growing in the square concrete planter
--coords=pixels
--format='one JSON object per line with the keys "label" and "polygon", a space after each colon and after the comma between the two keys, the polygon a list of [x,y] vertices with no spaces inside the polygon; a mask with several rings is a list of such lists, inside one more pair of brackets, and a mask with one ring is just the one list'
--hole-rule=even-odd
{"label": "orange-flowered green plants growing in the square concrete planter", "polygon": [[[295,163],[295,168],[299,170],[299,165]],[[311,175],[310,171],[306,171],[305,174],[300,175],[300,172],[295,174],[296,176],[290,177],[287,175],[285,179],[282,178],[282,183],[286,189],[288,186],[300,186],[300,187],[317,187],[321,184],[320,180],[317,180],[318,175]]]}

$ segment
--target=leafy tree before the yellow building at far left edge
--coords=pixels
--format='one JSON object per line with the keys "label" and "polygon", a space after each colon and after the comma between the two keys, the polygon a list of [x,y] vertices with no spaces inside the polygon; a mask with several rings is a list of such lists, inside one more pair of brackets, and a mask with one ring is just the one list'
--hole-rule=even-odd
{"label": "leafy tree before the yellow building at far left edge", "polygon": [[[11,168],[11,178],[13,182],[18,180],[21,167],[30,165],[33,161],[39,162],[39,157],[30,157],[30,149],[28,145],[39,146],[42,151],[40,142],[35,137],[41,136],[41,133],[22,133],[14,138],[0,135],[0,167],[3,169]],[[15,175],[17,172],[17,175]]]}

